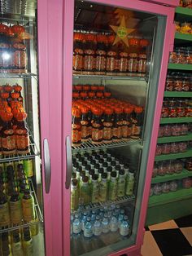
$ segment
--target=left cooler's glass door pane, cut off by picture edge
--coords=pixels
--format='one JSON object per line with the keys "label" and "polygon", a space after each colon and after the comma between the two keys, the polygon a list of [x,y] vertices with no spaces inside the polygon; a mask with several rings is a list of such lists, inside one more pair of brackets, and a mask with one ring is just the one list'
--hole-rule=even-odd
{"label": "left cooler's glass door pane, cut off by picture edge", "polygon": [[0,254],[45,255],[37,2],[1,3]]}

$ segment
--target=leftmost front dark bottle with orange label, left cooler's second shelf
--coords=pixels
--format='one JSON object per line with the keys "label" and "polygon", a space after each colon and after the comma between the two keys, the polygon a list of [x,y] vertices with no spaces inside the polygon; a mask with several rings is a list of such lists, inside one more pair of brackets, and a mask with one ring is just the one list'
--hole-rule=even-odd
{"label": "leftmost front dark bottle with orange label, left cooler's second shelf", "polygon": [[5,121],[2,128],[2,152],[4,155],[13,155],[16,152],[14,130],[11,121]]}

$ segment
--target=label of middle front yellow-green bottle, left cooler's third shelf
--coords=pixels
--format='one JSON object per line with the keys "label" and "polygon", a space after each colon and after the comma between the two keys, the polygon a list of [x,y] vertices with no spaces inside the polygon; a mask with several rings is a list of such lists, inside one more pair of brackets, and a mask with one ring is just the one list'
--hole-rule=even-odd
{"label": "label of middle front yellow-green bottle, left cooler's third shelf", "polygon": [[19,201],[10,201],[10,213],[11,213],[11,223],[18,224],[22,221],[22,210],[21,202]]}

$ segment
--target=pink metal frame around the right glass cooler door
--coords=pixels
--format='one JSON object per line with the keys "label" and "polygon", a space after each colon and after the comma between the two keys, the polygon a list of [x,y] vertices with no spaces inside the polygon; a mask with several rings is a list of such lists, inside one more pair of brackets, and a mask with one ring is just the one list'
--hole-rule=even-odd
{"label": "pink metal frame around the right glass cooler door", "polygon": [[[138,0],[125,1],[125,0],[89,0],[89,2],[103,3],[111,6],[125,7],[136,11],[147,11],[159,15],[167,15],[168,22],[166,25],[165,39],[164,39],[164,53],[162,56],[162,66],[160,70],[159,88],[158,88],[158,101],[155,106],[155,120],[153,124],[153,132],[151,135],[151,148],[149,152],[149,158],[147,163],[146,173],[146,186],[143,192],[141,218],[138,225],[137,242],[136,245],[131,246],[129,249],[122,249],[118,253],[111,254],[113,256],[124,253],[129,255],[135,255],[139,251],[143,241],[143,227],[146,218],[146,209],[148,204],[148,196],[151,187],[151,175],[153,169],[153,163],[155,159],[155,146],[158,135],[159,118],[161,112],[161,105],[164,96],[164,82],[168,67],[168,53],[169,45],[172,44],[173,33],[172,23],[174,17],[173,8],[159,6],[149,2],[142,2]],[[71,135],[71,107],[72,107],[72,38],[73,38],[73,3],[71,0],[64,0],[63,5],[63,246],[64,255],[70,255],[70,192],[64,188],[66,181],[66,150],[65,150],[65,138],[67,135]]]}

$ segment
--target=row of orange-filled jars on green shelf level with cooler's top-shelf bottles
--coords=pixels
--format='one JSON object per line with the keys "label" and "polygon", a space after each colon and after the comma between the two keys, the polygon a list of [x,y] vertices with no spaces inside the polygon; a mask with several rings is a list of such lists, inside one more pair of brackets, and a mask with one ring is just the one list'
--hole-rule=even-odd
{"label": "row of orange-filled jars on green shelf level with cooler's top-shelf bottles", "polygon": [[169,56],[169,63],[174,64],[192,64],[192,48],[191,47],[177,47]]}

